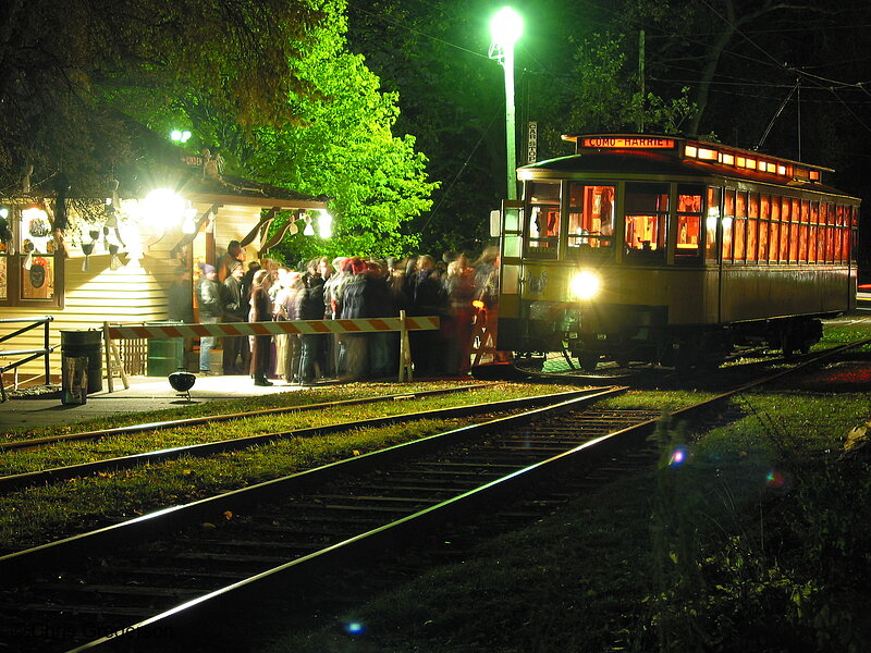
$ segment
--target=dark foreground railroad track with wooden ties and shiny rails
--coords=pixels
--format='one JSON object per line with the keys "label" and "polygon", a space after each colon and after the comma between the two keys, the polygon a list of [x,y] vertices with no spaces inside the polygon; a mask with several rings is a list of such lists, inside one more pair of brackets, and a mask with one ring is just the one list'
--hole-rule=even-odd
{"label": "dark foreground railroad track with wooden ties and shiny rails", "polygon": [[[745,383],[671,417],[700,419],[732,394],[793,371]],[[575,478],[580,470],[589,482],[623,475],[639,446],[647,446],[641,455],[647,464],[654,453],[643,443],[657,415],[584,409],[604,394],[465,427],[0,558],[0,578],[11,581],[0,593],[0,624],[5,625],[0,637],[16,651],[47,653],[131,651],[135,645],[142,651],[194,650],[214,632],[208,626],[216,619],[238,618],[244,606],[259,605],[263,595],[280,592],[293,602],[329,578],[323,576],[328,570],[341,574],[377,552],[412,546],[447,522],[496,513],[508,497],[542,479],[566,470]],[[116,551],[124,556],[110,553]],[[52,624],[53,631],[40,630],[40,624]],[[46,636],[57,632],[57,645],[47,645]],[[147,641],[158,643],[142,644]]]}

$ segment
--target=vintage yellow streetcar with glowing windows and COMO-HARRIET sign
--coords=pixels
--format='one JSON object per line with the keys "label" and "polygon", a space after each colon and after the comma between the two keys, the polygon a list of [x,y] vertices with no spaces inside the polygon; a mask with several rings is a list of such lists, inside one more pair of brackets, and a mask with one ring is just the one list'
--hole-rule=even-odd
{"label": "vintage yellow streetcar with glowing windows and COMO-HARRIET sign", "polygon": [[[736,346],[807,352],[856,307],[860,200],[834,171],[675,136],[564,136],[499,212],[496,348],[720,365]],[[494,217],[495,218],[495,217]]]}

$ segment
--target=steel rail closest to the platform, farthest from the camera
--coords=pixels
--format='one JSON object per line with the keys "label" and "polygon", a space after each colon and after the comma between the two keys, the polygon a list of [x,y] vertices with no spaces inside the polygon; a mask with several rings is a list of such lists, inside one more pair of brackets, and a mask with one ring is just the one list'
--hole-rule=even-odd
{"label": "steel rail closest to the platform, farthest from the camera", "polygon": [[103,429],[98,431],[83,431],[81,433],[66,433],[63,435],[52,435],[50,438],[34,438],[30,440],[13,440],[10,442],[0,442],[0,452],[37,447],[44,444],[54,444],[58,442],[69,442],[74,440],[97,440],[98,438],[107,438],[110,435],[130,435],[132,433],[142,433],[144,431],[160,431],[167,429],[177,429],[181,427],[197,427],[213,422],[231,421],[235,419],[247,419],[252,417],[263,417],[268,415],[281,415],[284,412],[305,411],[305,410],[322,410],[334,406],[359,406],[366,404],[377,404],[381,402],[396,402],[401,399],[412,399],[415,397],[438,396],[442,394],[461,393],[471,390],[482,390],[492,387],[492,384],[476,383],[474,385],[462,385],[457,387],[443,387],[441,390],[424,390],[420,392],[393,394],[387,396],[372,396],[361,397],[358,399],[340,399],[338,402],[323,402],[319,404],[305,404],[300,406],[282,406],[280,408],[263,408],[260,410],[246,410],[244,412],[229,412],[224,415],[209,415],[205,417],[188,417],[184,419],[173,419],[165,421],[146,422],[140,424],[130,424],[127,427],[115,427],[112,429]]}

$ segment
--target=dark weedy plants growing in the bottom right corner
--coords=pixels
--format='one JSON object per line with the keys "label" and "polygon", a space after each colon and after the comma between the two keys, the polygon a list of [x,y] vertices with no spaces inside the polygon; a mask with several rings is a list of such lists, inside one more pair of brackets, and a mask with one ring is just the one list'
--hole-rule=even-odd
{"label": "dark weedy plants growing in the bottom right corner", "polygon": [[[658,430],[657,574],[637,650],[655,640],[659,651],[860,651],[871,641],[861,608],[871,539],[856,528],[871,519],[871,467],[819,457],[859,404],[803,402],[755,397],[753,415],[694,444],[680,428]],[[811,414],[822,431],[806,443],[799,424]]]}

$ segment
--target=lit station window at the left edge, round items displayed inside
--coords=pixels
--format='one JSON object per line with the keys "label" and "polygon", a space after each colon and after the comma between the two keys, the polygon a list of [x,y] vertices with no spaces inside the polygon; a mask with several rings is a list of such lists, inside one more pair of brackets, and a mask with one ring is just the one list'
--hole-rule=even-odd
{"label": "lit station window at the left edge, round items displayed inside", "polygon": [[45,207],[3,207],[12,233],[0,242],[0,305],[62,307],[62,262]]}

